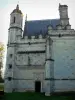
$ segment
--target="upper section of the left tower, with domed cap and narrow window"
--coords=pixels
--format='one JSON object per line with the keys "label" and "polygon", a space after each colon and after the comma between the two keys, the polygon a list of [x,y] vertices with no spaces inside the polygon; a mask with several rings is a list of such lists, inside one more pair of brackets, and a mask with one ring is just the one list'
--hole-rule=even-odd
{"label": "upper section of the left tower, with domed cap and narrow window", "polygon": [[13,43],[16,41],[17,36],[22,36],[22,21],[23,14],[19,10],[19,5],[10,14],[10,27],[9,27],[9,37],[8,42]]}

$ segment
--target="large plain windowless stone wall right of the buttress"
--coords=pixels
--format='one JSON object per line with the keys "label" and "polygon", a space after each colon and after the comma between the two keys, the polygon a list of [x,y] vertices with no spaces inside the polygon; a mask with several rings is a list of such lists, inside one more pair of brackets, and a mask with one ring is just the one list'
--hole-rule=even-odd
{"label": "large plain windowless stone wall right of the buttress", "polygon": [[59,30],[49,34],[53,40],[53,89],[56,92],[75,91],[75,31]]}

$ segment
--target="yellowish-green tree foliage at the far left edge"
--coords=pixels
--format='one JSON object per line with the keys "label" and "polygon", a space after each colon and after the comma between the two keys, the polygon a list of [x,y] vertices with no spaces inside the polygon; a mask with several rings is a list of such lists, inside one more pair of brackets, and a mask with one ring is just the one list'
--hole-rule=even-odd
{"label": "yellowish-green tree foliage at the far left edge", "polygon": [[4,45],[0,42],[0,82],[2,82],[1,69],[3,68]]}

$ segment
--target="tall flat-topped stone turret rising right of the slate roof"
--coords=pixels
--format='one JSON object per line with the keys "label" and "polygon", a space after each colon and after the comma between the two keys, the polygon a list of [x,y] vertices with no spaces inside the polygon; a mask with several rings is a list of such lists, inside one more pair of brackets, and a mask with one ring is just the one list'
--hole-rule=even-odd
{"label": "tall flat-topped stone turret rising right of the slate roof", "polygon": [[62,25],[63,28],[67,28],[68,26],[70,26],[68,18],[68,6],[59,4],[59,13],[60,13],[60,25]]}

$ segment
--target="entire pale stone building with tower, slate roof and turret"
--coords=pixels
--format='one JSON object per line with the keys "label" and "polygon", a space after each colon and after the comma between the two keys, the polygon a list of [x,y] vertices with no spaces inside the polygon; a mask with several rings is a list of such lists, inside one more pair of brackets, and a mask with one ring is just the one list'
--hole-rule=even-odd
{"label": "entire pale stone building with tower, slate roof and turret", "polygon": [[19,5],[10,14],[5,92],[75,91],[75,30],[68,6],[59,4],[59,19],[25,20]]}

